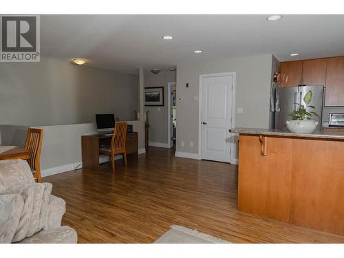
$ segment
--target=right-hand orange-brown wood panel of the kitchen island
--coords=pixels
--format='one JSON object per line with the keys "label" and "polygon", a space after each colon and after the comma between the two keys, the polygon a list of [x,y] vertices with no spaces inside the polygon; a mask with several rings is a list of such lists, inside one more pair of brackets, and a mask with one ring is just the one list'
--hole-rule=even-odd
{"label": "right-hand orange-brown wood panel of the kitchen island", "polygon": [[290,223],[344,235],[344,142],[293,139]]}

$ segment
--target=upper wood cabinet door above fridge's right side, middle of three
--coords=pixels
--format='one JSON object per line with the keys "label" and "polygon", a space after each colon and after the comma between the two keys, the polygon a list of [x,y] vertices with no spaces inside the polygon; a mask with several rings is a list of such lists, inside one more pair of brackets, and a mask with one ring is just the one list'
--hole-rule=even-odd
{"label": "upper wood cabinet door above fridge's right side, middle of three", "polygon": [[324,85],[326,83],[327,59],[312,59],[303,61],[302,84]]}

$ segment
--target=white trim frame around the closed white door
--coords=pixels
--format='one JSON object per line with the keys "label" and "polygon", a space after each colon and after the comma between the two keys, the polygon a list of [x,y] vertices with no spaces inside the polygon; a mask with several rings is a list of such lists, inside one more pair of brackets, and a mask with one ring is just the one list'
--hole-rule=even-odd
{"label": "white trim frame around the closed white door", "polygon": [[[200,89],[199,89],[199,107],[198,107],[198,159],[202,160],[202,85],[203,78],[208,77],[222,77],[222,76],[233,76],[233,87],[232,87],[232,128],[235,127],[235,84],[236,84],[236,72],[222,72],[215,74],[200,74]],[[228,128],[229,129],[229,128]],[[230,164],[236,164],[235,158],[235,142],[234,142],[234,133],[230,133]]]}

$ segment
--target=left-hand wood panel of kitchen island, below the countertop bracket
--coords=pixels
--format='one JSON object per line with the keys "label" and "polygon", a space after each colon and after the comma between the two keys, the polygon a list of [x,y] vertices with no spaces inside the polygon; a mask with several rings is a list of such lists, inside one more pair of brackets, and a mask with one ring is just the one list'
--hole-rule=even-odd
{"label": "left-hand wood panel of kitchen island, below the countertop bracket", "polygon": [[288,222],[292,139],[239,137],[238,210]]}

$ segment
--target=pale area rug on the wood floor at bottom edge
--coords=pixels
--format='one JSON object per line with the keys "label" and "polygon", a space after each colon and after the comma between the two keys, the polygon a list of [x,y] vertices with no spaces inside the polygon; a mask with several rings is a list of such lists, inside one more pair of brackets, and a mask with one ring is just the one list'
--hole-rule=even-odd
{"label": "pale area rug on the wood floor at bottom edge", "polygon": [[230,244],[230,242],[200,233],[195,229],[173,225],[164,235],[156,239],[154,244]]}

